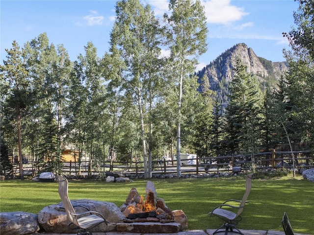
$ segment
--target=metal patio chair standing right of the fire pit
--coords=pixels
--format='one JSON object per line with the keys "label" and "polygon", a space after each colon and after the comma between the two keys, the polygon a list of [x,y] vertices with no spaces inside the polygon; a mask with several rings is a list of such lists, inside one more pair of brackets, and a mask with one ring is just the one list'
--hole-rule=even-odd
{"label": "metal patio chair standing right of the fire pit", "polygon": [[[221,225],[213,233],[213,235],[216,234],[216,233],[222,233],[222,232],[224,232],[225,235],[227,235],[229,231],[233,232],[233,233],[244,235],[235,226],[242,219],[240,214],[242,213],[244,205],[247,202],[246,199],[247,199],[247,197],[250,194],[250,191],[251,191],[251,188],[252,188],[252,179],[253,179],[253,174],[248,174],[246,176],[245,193],[244,193],[241,201],[235,200],[235,199],[227,200],[223,204],[220,204],[220,205],[216,206],[212,211],[210,211],[208,213],[210,216],[211,215],[215,215],[215,216],[217,216],[218,218],[220,218],[220,219],[222,219],[224,221],[223,225]],[[228,202],[236,202],[236,203],[239,203],[239,205],[238,206],[233,206],[233,205],[227,204]],[[229,210],[223,209],[223,208],[228,208]]]}

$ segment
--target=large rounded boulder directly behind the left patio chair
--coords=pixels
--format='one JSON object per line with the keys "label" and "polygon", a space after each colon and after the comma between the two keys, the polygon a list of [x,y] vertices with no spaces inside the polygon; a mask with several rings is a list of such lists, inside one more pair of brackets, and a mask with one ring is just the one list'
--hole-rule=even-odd
{"label": "large rounded boulder directly behind the left patio chair", "polygon": [[[71,200],[71,203],[78,213],[85,212],[85,208],[87,208],[89,211],[99,212],[105,217],[107,225],[101,223],[91,229],[91,232],[114,231],[116,230],[116,224],[126,218],[120,209],[111,202],[80,199]],[[71,228],[69,227],[70,221],[67,218],[62,202],[50,205],[39,211],[38,222],[46,232],[60,234],[76,232],[73,226]]]}

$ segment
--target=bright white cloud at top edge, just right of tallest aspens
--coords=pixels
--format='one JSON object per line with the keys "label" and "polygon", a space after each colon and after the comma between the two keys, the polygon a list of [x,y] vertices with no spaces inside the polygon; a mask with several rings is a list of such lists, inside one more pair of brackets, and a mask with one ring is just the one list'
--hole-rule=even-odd
{"label": "bright white cloud at top edge, just right of tallest aspens", "polygon": [[248,15],[243,8],[231,5],[231,0],[201,0],[205,7],[207,23],[230,24]]}

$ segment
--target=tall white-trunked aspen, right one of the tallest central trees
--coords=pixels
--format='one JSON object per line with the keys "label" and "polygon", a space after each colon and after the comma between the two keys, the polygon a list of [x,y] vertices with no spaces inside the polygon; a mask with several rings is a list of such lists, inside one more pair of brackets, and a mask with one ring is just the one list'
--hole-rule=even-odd
{"label": "tall white-trunked aspen, right one of the tallest central trees", "polygon": [[[199,0],[170,0],[169,11],[171,15],[164,14],[164,20],[168,23],[166,30],[167,45],[171,51],[167,61],[170,76],[169,82],[176,87],[178,102],[177,112],[177,175],[181,176],[181,125],[184,121],[184,100],[193,99],[193,82],[196,77],[195,65],[199,56],[207,50],[207,26],[204,6]],[[192,89],[191,89],[192,88]],[[189,107],[193,102],[186,102]],[[185,110],[187,111],[187,110]]]}

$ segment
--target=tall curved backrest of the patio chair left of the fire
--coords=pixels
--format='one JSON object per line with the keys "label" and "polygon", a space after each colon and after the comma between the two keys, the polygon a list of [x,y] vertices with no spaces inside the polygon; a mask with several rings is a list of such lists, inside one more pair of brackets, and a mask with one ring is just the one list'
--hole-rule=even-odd
{"label": "tall curved backrest of the patio chair left of the fire", "polygon": [[68,219],[71,221],[71,223],[74,223],[75,225],[78,225],[77,217],[72,215],[71,213],[75,213],[74,208],[71,204],[71,201],[68,197],[68,180],[64,176],[58,175],[56,180],[59,182],[59,195],[63,204],[63,207],[67,213]]}

